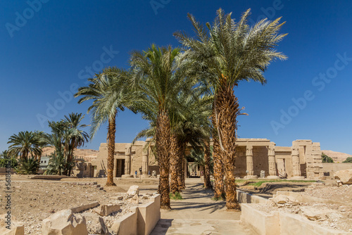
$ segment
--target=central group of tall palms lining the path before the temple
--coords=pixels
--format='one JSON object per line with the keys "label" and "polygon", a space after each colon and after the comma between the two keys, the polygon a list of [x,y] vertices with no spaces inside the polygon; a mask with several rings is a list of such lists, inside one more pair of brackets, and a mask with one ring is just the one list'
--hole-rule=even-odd
{"label": "central group of tall palms lining the path before the temple", "polygon": [[[236,199],[237,116],[241,113],[234,88],[241,80],[264,84],[263,72],[271,61],[286,57],[275,46],[286,34],[279,18],[248,25],[250,10],[239,22],[219,9],[206,27],[188,15],[195,37],[174,35],[182,45],[152,45],[132,51],[130,68],[106,68],[89,79],[75,96],[79,103],[92,100],[91,136],[108,121],[108,179],[113,183],[115,119],[125,108],[142,113],[149,127],[140,137],[152,137],[160,167],[161,208],[170,208],[170,192],[184,189],[184,151],[187,144],[203,149],[205,186],[210,187],[210,138],[213,139],[215,198],[225,196],[229,209],[239,209]],[[170,176],[170,182],[169,182]]]}

